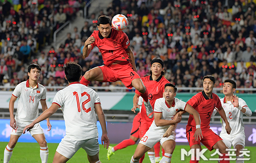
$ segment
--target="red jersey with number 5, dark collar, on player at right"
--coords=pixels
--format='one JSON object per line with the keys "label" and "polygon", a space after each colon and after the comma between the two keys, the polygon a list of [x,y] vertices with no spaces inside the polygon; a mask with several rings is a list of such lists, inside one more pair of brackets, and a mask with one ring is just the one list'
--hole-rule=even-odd
{"label": "red jersey with number 5, dark collar, on player at right", "polygon": [[[209,99],[204,91],[199,92],[190,98],[187,104],[190,104],[199,113],[201,119],[201,129],[210,128],[210,120],[214,108],[220,108],[222,106],[220,98],[216,94],[212,93],[212,97]],[[189,115],[187,126],[196,127],[194,116],[191,114]]]}

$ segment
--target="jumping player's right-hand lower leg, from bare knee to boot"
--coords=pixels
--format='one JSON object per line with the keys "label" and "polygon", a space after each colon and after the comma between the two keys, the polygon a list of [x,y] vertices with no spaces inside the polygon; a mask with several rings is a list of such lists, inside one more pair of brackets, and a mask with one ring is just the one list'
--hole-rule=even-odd
{"label": "jumping player's right-hand lower leg, from bare knee to boot", "polygon": [[134,88],[139,91],[139,95],[142,96],[142,98],[144,100],[143,103],[145,105],[146,114],[147,114],[148,118],[153,118],[154,112],[153,112],[153,108],[150,104],[150,101],[148,100],[148,90],[144,86],[142,80],[134,79],[132,81],[132,86],[134,86]]}

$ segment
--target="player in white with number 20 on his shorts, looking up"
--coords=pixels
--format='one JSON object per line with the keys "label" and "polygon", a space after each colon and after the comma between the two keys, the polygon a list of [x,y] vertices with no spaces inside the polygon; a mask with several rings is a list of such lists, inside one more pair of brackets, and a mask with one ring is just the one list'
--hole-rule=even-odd
{"label": "player in white with number 20 on his shorts, looking up", "polygon": [[[167,137],[163,137],[169,126],[177,124],[181,121],[180,113],[176,114],[179,110],[185,110],[190,115],[194,116],[194,123],[200,126],[200,116],[198,112],[192,108],[192,106],[186,104],[175,98],[177,88],[171,83],[165,84],[164,97],[158,98],[154,105],[154,121],[146,134],[140,140],[134,155],[131,158],[130,163],[138,163],[139,159],[144,155],[146,151],[151,149],[158,141],[160,141],[164,148],[164,156],[160,163],[170,163],[172,153],[175,148],[175,132],[173,131]],[[176,127],[175,127],[176,128]],[[174,130],[175,130],[174,128]],[[194,133],[194,139],[201,139],[202,132],[200,128],[197,128]]]}

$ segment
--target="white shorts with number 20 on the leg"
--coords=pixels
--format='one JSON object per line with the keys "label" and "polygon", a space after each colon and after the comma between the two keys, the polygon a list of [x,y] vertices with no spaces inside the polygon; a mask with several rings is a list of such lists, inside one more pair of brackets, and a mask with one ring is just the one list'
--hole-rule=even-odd
{"label": "white shorts with number 20 on the leg", "polygon": [[147,147],[154,147],[154,145],[160,141],[161,145],[164,143],[164,141],[167,140],[174,140],[176,139],[175,132],[172,132],[172,134],[169,137],[163,137],[164,133],[160,133],[157,130],[148,130],[146,134],[142,137],[139,143],[146,145]]}

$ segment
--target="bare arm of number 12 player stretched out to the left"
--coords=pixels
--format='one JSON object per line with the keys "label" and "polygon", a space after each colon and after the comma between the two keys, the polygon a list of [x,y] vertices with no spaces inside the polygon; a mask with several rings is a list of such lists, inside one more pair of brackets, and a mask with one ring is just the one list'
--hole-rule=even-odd
{"label": "bare arm of number 12 player stretched out to the left", "polygon": [[54,114],[58,110],[58,108],[60,108],[60,106],[58,106],[57,104],[52,104],[50,108],[45,110],[38,118],[36,118],[31,124],[29,124],[23,129],[23,134],[25,134],[26,130],[29,131],[30,129],[32,129],[35,124],[45,120],[46,118],[49,118],[52,114]]}

